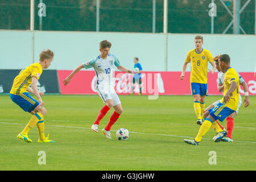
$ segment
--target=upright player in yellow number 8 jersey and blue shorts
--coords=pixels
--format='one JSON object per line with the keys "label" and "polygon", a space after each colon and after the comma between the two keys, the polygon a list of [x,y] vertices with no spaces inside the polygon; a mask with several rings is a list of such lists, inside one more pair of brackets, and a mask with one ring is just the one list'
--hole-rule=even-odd
{"label": "upright player in yellow number 8 jersey and blue shorts", "polygon": [[195,49],[188,51],[187,57],[182,67],[181,80],[184,79],[185,71],[188,63],[191,63],[191,92],[194,100],[194,110],[197,116],[196,123],[202,125],[203,114],[205,109],[205,96],[208,96],[207,90],[207,68],[208,62],[212,65],[210,73],[214,73],[216,65],[212,54],[207,49],[203,48],[203,36],[197,35],[195,37]]}

